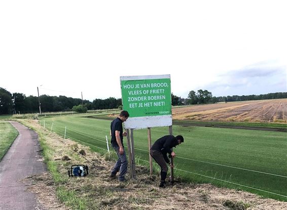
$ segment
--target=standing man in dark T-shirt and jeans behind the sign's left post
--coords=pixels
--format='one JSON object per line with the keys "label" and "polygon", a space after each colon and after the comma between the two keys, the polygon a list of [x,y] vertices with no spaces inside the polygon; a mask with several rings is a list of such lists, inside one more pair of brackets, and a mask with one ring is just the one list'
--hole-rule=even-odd
{"label": "standing man in dark T-shirt and jeans behind the sign's left post", "polygon": [[120,172],[118,177],[120,182],[124,182],[126,180],[125,174],[128,168],[127,156],[123,144],[123,136],[127,136],[127,133],[123,132],[122,125],[122,123],[125,122],[128,117],[129,113],[127,111],[121,111],[120,115],[111,123],[111,143],[115,148],[119,159],[111,171],[110,178],[115,178],[117,172]]}

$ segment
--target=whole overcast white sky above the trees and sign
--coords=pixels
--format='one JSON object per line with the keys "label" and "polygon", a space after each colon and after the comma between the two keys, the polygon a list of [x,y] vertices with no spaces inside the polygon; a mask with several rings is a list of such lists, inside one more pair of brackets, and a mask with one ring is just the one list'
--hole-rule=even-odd
{"label": "whole overcast white sky above the trees and sign", "polygon": [[287,92],[286,20],[273,0],[0,1],[0,87],[93,101],[170,74],[183,98]]}

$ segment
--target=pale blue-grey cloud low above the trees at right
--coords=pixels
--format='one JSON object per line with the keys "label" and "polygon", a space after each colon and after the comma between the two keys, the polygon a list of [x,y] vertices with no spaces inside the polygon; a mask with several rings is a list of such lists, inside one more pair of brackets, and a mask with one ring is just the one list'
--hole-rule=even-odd
{"label": "pale blue-grey cloud low above the trees at right", "polygon": [[[216,82],[205,86],[220,95],[266,94],[286,91],[286,66],[262,62],[219,75]],[[285,84],[285,85],[284,85]]]}

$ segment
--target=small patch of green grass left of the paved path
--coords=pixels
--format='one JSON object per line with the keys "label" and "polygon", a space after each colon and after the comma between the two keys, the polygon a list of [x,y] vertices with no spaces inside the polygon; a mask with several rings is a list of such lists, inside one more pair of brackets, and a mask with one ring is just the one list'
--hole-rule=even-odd
{"label": "small patch of green grass left of the paved path", "polygon": [[0,160],[18,136],[18,131],[9,123],[0,121]]}

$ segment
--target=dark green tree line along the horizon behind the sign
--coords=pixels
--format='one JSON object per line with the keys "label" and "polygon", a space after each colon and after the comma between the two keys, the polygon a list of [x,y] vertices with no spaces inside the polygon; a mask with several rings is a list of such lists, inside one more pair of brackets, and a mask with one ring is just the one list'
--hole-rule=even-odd
{"label": "dark green tree line along the horizon behind the sign", "polygon": [[[269,93],[261,95],[248,96],[220,96],[212,97],[212,93],[206,89],[203,91],[199,89],[197,92],[190,91],[187,99],[175,96],[171,93],[171,105],[180,106],[184,104],[207,104],[218,102],[232,102],[232,101],[250,101],[250,100],[265,100],[265,99],[283,99],[287,98],[287,92],[283,93]],[[0,114],[12,113],[38,113],[39,100],[41,103],[42,112],[54,111],[77,111],[85,112],[87,110],[98,109],[114,109],[122,108],[122,99],[113,97],[107,99],[95,99],[93,102],[82,99],[68,98],[65,96],[48,96],[42,95],[38,99],[35,96],[26,97],[25,94],[13,93],[11,94],[6,89],[0,87]]]}

